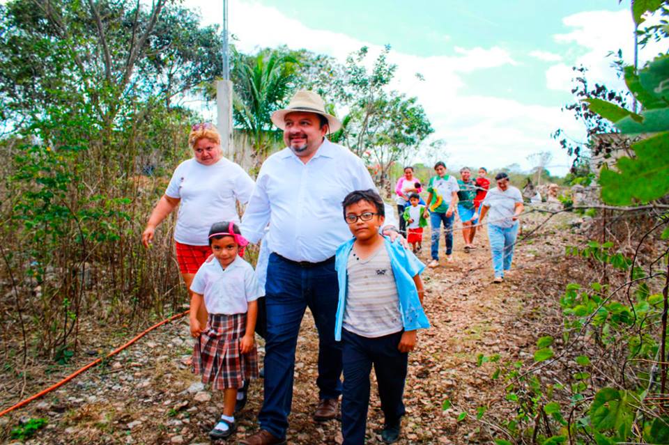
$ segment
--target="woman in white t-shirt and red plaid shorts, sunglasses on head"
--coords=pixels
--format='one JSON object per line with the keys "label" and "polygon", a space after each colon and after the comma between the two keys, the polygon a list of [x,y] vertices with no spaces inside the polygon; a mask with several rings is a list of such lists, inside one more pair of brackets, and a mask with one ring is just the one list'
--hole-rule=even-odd
{"label": "woman in white t-shirt and red plaid shorts, sunglasses on head", "polygon": [[[165,194],[153,208],[141,241],[148,247],[155,228],[179,206],[174,240],[179,270],[187,289],[211,255],[209,228],[216,221],[239,224],[237,201],[246,204],[254,182],[238,164],[223,157],[221,136],[210,123],[193,125],[188,136],[193,157],[176,168]],[[198,314],[204,324],[207,313]]]}

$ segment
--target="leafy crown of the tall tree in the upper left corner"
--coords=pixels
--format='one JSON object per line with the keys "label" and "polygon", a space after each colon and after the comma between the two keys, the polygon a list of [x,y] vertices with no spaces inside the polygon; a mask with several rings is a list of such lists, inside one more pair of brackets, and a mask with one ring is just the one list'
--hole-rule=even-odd
{"label": "leafy crown of the tall tree in the upper left corner", "polygon": [[13,126],[76,96],[112,128],[132,101],[162,95],[169,103],[220,73],[216,29],[201,28],[173,0],[14,0],[1,8],[0,99]]}

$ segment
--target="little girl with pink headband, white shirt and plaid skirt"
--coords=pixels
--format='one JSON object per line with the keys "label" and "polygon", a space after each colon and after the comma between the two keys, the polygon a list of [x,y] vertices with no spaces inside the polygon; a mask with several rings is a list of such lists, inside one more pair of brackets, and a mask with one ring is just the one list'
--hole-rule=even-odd
{"label": "little girl with pink headband, white shirt and plaid skirt", "polygon": [[[258,377],[258,354],[254,329],[259,288],[253,267],[241,256],[249,244],[231,221],[213,224],[209,246],[214,260],[203,263],[190,290],[190,333],[198,338],[193,351],[193,372],[202,382],[223,391],[223,415],[209,432],[212,439],[224,439],[235,432],[238,389]],[[197,313],[204,304],[209,314],[202,326]]]}

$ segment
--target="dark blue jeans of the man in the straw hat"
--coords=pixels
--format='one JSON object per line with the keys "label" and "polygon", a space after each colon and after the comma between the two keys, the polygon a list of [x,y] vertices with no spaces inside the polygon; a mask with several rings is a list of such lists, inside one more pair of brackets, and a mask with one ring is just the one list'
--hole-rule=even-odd
{"label": "dark blue jeans of the man in the straw hat", "polygon": [[[314,315],[318,329],[318,379],[320,398],[341,394],[341,345],[334,341],[334,319],[339,284],[334,261],[301,267],[272,253],[265,283],[267,338],[265,344],[265,400],[258,419],[263,430],[286,437],[293,403],[295,346],[305,309]],[[308,345],[312,349],[314,345]]]}

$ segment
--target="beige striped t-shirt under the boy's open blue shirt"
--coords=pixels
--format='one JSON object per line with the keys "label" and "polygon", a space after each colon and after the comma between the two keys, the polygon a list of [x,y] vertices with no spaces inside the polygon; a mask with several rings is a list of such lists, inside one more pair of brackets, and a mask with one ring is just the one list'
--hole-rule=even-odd
{"label": "beige striped t-shirt under the boy's open blue shirt", "polygon": [[401,331],[399,295],[385,245],[364,260],[351,250],[346,271],[348,289],[342,327],[368,338]]}

